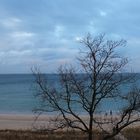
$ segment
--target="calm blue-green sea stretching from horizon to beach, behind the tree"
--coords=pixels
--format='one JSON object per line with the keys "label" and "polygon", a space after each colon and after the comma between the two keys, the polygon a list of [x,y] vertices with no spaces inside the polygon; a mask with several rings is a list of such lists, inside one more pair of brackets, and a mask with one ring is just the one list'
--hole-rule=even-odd
{"label": "calm blue-green sea stretching from horizon to beach, behind the tree", "polygon": [[[57,74],[46,76],[50,83],[57,84]],[[138,77],[140,79],[140,74]],[[0,114],[33,114],[40,104],[35,86],[33,74],[0,74]],[[125,91],[126,86],[122,89]],[[103,103],[103,110],[117,112],[122,104],[122,101],[108,100]]]}

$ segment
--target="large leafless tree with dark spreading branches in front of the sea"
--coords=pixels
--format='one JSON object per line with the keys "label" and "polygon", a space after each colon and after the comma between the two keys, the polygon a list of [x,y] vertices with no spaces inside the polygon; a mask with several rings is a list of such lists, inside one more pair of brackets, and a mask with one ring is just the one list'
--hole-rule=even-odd
{"label": "large leafless tree with dark spreading branches in front of the sea", "polygon": [[[104,139],[109,139],[140,120],[135,114],[140,106],[139,90],[127,93],[121,90],[121,86],[132,82],[132,74],[123,73],[127,58],[115,53],[118,47],[126,45],[126,41],[106,40],[104,35],[92,38],[89,34],[81,43],[85,48],[78,58],[79,70],[60,67],[57,86],[49,85],[44,75],[34,71],[38,96],[42,99],[42,106],[36,111],[55,112],[56,118],[52,119],[51,129],[67,127],[81,130],[88,134],[88,140],[92,140],[93,130],[98,127],[105,134]],[[97,115],[99,108],[110,99],[126,101],[126,107],[122,108],[115,119],[100,119]],[[110,126],[109,130],[107,126]]]}

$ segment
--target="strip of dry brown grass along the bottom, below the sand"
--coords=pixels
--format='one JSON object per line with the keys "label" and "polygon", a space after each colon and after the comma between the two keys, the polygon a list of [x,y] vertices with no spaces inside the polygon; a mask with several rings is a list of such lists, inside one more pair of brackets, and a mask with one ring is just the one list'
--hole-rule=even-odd
{"label": "strip of dry brown grass along the bottom, below the sand", "polygon": [[[95,140],[102,140],[101,133],[96,130],[94,134]],[[127,128],[123,131],[123,135],[128,140],[140,140],[140,127]],[[87,140],[87,136],[77,131],[48,133],[30,130],[0,130],[0,140]]]}

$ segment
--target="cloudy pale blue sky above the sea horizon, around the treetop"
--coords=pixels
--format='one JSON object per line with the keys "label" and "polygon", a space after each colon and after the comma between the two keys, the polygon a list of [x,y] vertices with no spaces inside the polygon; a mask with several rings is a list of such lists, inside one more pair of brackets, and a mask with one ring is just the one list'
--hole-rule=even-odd
{"label": "cloudy pale blue sky above the sea horizon, around the treetop", "polygon": [[53,73],[73,63],[87,33],[125,39],[140,72],[140,0],[0,0],[0,73]]}

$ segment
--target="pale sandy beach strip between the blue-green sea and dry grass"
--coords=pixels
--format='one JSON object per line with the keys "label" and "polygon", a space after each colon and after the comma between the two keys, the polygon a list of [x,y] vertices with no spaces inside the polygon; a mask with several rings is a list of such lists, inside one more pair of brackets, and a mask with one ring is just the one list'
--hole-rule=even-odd
{"label": "pale sandy beach strip between the blue-green sea and dry grass", "polygon": [[[35,122],[36,116],[31,114],[0,114],[0,130],[12,129],[12,130],[34,130],[40,126],[48,125],[50,118],[53,118],[53,115],[41,115],[39,119]],[[106,117],[104,115],[97,115],[97,118],[102,120]],[[88,117],[83,115],[82,119],[84,121],[88,120]],[[110,120],[110,117],[106,118]],[[116,120],[117,116],[113,116],[113,120]],[[50,125],[50,124],[49,124]],[[136,123],[136,126],[140,123]],[[133,124],[133,126],[135,126]],[[109,126],[105,126],[109,128]]]}

